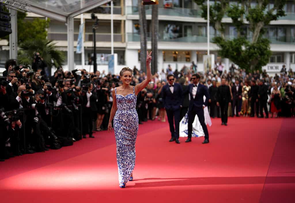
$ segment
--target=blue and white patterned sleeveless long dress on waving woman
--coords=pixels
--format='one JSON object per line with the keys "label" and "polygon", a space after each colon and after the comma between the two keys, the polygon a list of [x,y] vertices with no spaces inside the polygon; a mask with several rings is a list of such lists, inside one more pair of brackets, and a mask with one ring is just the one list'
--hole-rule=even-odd
{"label": "blue and white patterned sleeveless long dress on waving woman", "polygon": [[114,117],[114,132],[117,144],[119,182],[126,183],[135,166],[135,141],[138,131],[138,115],[135,109],[137,96],[117,95],[117,112]]}

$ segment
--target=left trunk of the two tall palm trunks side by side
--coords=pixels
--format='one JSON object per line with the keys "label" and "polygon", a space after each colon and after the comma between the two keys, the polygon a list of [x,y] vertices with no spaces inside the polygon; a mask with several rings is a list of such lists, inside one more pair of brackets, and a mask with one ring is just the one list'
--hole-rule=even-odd
{"label": "left trunk of the two tall palm trunks side by side", "polygon": [[138,0],[140,25],[140,70],[146,72],[145,60],[147,57],[147,20],[145,16],[145,7],[141,2],[141,0]]}

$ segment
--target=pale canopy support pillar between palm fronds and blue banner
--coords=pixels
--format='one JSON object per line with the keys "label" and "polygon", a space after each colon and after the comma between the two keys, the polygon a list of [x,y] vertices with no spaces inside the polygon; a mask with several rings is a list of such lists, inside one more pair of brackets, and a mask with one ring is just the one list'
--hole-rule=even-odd
{"label": "pale canopy support pillar between palm fronds and blue banner", "polygon": [[74,69],[74,18],[68,18],[68,70]]}

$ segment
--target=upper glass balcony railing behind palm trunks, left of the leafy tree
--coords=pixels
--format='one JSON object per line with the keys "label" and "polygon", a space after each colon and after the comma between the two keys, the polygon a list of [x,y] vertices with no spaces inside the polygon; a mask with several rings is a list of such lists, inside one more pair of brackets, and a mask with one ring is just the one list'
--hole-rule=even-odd
{"label": "upper glass balcony railing behind palm trunks, left of the leafy tree", "polygon": [[[180,7],[159,7],[158,14],[166,15],[166,16],[186,16],[186,17],[201,17],[200,10],[197,9],[188,9],[188,8],[180,8]],[[127,14],[129,15],[138,15],[138,7],[137,6],[127,6]],[[145,14],[152,14],[152,6],[145,5]]]}

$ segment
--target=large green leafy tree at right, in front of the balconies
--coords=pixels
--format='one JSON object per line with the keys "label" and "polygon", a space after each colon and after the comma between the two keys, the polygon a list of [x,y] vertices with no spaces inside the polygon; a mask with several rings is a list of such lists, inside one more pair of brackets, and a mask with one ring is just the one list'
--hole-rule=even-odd
{"label": "large green leafy tree at right, in front of the balconies", "polygon": [[[207,19],[207,5],[205,5],[207,0],[195,0],[195,2],[203,10],[202,17]],[[271,2],[272,7],[269,9]],[[237,0],[236,4],[230,4],[229,0],[214,1],[214,4],[210,5],[209,20],[218,31],[215,32],[217,35],[213,38],[213,42],[220,48],[219,55],[229,58],[240,68],[248,71],[260,70],[268,63],[271,56],[270,41],[265,36],[264,27],[285,15],[283,10],[285,4],[286,0]],[[222,16],[226,14],[232,19],[237,31],[235,39],[224,37],[224,24],[219,12]],[[249,36],[245,32],[247,28],[250,31]]]}

